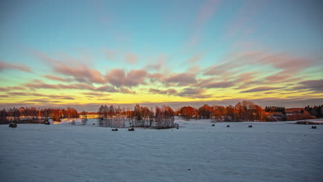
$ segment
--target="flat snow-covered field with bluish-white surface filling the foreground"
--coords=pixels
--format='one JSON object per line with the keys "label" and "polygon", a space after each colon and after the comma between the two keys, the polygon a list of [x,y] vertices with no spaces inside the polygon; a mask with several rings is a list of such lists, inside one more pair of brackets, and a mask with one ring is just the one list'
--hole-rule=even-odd
{"label": "flat snow-covered field with bluish-white surface filling the foreground", "polygon": [[112,132],[93,122],[0,125],[1,181],[323,181],[323,125],[177,119],[179,130]]}

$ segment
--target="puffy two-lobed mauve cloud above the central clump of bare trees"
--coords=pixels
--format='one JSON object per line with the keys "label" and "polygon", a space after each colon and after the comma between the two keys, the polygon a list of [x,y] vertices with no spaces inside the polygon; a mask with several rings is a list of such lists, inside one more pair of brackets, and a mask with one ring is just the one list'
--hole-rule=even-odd
{"label": "puffy two-lobed mauve cloud above the central clump of bare trees", "polygon": [[126,73],[124,70],[115,69],[106,74],[106,81],[117,87],[132,87],[145,84],[147,74],[146,70],[130,70]]}

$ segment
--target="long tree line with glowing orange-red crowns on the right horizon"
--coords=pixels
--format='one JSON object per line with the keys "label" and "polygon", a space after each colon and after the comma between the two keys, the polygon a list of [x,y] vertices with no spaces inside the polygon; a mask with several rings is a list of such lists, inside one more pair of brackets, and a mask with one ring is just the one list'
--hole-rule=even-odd
{"label": "long tree line with glowing orange-red crowns on the right horizon", "polygon": [[199,108],[184,106],[177,109],[177,116],[184,119],[214,119],[215,121],[295,121],[322,117],[322,105],[306,107],[302,112],[286,114],[280,106],[262,108],[253,101],[241,101],[236,105],[203,105]]}

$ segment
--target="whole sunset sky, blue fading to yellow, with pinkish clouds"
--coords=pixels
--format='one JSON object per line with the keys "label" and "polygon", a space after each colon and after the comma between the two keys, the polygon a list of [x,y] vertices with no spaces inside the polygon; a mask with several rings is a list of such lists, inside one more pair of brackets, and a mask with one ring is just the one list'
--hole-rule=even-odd
{"label": "whole sunset sky, blue fading to yellow, with pinkish clouds", "polygon": [[322,1],[1,1],[0,108],[323,103]]}

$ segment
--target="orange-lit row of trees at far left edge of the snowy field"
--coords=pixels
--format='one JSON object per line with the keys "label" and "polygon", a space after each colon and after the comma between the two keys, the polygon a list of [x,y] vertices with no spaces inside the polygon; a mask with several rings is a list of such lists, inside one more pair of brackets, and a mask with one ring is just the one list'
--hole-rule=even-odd
{"label": "orange-lit row of trees at far left edge of the snowy field", "polygon": [[75,108],[35,108],[20,107],[0,110],[0,123],[6,124],[12,121],[38,121],[52,118],[53,121],[60,121],[63,118],[78,118],[79,114]]}

